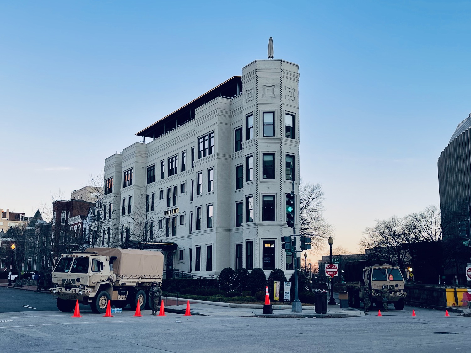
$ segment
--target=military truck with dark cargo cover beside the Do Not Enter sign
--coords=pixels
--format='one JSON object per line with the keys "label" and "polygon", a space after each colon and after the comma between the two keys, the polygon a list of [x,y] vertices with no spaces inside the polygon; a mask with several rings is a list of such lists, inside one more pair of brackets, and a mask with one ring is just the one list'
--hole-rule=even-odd
{"label": "military truck with dark cargo cover beside the Do Not Enter sign", "polygon": [[389,290],[388,304],[393,304],[396,310],[404,309],[404,277],[397,266],[378,260],[360,260],[345,263],[345,284],[349,293],[349,306],[360,307],[363,302],[362,288],[367,286],[371,292],[371,305],[382,307],[381,289],[383,284]]}

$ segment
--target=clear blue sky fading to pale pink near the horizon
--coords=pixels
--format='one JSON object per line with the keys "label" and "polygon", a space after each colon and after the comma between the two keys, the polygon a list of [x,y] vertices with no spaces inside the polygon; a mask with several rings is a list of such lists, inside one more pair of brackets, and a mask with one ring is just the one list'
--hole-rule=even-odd
{"label": "clear blue sky fading to pale pink near the horizon", "polygon": [[0,207],[32,215],[267,55],[300,65],[301,176],[335,245],[439,204],[471,112],[470,1],[1,1]]}

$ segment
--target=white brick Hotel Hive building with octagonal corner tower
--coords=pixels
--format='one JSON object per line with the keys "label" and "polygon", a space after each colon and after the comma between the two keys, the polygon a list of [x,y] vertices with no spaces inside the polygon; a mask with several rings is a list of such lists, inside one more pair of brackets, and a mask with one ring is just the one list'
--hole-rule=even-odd
{"label": "white brick Hotel Hive building with octagonal corner tower", "polygon": [[145,143],[105,160],[104,229],[118,242],[173,243],[167,270],[292,269],[280,237],[292,234],[292,176],[298,192],[298,82],[298,65],[257,60],[138,132]]}

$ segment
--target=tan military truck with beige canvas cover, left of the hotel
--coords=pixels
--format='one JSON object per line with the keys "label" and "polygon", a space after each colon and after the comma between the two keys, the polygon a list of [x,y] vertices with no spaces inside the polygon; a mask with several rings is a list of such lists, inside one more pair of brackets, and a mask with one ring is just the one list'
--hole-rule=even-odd
{"label": "tan military truck with beige canvas cover, left of the hotel", "polygon": [[73,311],[77,299],[94,313],[105,313],[108,300],[121,308],[135,308],[139,300],[143,310],[152,283],[162,286],[162,272],[160,251],[89,248],[59,258],[49,292],[62,312]]}

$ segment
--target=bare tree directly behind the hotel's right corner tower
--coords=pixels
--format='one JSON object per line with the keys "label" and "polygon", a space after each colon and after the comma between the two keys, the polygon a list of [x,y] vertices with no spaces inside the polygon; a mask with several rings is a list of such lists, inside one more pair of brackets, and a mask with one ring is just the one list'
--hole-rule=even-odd
{"label": "bare tree directly behind the hotel's right corner tower", "polygon": [[333,233],[333,227],[324,217],[324,192],[322,186],[306,183],[302,179],[299,185],[300,198],[300,235],[311,238],[313,250],[324,247],[324,239]]}

